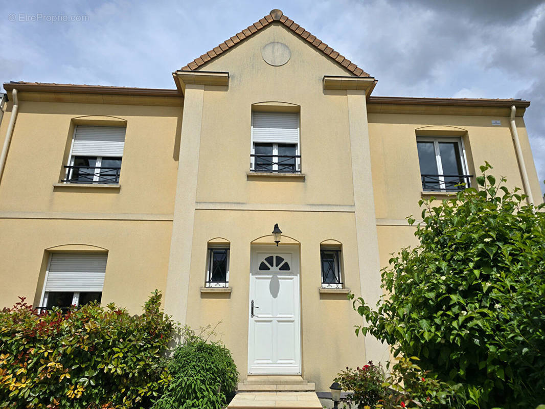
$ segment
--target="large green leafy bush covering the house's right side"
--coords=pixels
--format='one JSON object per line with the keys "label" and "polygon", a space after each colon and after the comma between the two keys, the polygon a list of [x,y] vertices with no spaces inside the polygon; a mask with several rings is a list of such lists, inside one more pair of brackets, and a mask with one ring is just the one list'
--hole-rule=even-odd
{"label": "large green leafy bush covering the house's right side", "polygon": [[526,205],[490,167],[478,191],[420,202],[420,245],[383,269],[388,296],[377,309],[355,300],[366,320],[356,333],[463,383],[475,405],[536,407],[545,401],[545,207]]}

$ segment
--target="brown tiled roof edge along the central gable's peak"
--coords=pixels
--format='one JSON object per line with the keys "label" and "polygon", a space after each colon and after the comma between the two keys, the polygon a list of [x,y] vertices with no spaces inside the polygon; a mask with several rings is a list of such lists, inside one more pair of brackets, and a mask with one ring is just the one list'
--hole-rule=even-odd
{"label": "brown tiled roof edge along the central gable's peak", "polygon": [[247,28],[243,29],[243,31],[241,31],[240,33],[233,35],[233,37],[223,41],[223,43],[219,44],[217,47],[214,47],[212,50],[204,53],[202,56],[194,59],[185,67],[182,67],[181,70],[183,71],[196,70],[197,68],[209,62],[211,59],[216,58],[221,53],[231,49],[232,47],[234,47],[241,41],[244,41],[248,37],[251,37],[251,35],[257,33],[258,31],[261,31],[263,28],[267,27],[270,23],[275,21],[282,23],[284,26],[292,30],[294,34],[299,35],[299,37],[306,40],[314,48],[318,49],[319,51],[324,53],[326,56],[333,59],[337,64],[342,65],[343,68],[345,68],[346,70],[348,70],[350,73],[354,74],[355,76],[358,76],[358,77],[370,76],[364,70],[359,68],[358,65],[354,64],[348,58],[342,56],[340,53],[332,49],[327,44],[323,43],[322,40],[316,38],[316,35],[312,35],[310,32],[306,31],[304,28],[299,26],[296,22],[294,22],[293,20],[290,20],[288,16],[285,16],[282,13],[282,10],[278,10],[278,9],[271,10],[268,15],[263,17],[263,19],[259,19],[258,21],[253,23],[251,26],[248,26]]}

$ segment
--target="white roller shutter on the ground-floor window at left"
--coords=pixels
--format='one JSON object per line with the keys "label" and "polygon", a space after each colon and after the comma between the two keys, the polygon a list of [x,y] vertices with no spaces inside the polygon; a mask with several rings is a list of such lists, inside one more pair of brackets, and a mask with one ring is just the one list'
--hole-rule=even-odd
{"label": "white roller shutter on the ground-floor window at left", "polygon": [[102,291],[107,254],[53,253],[45,291]]}

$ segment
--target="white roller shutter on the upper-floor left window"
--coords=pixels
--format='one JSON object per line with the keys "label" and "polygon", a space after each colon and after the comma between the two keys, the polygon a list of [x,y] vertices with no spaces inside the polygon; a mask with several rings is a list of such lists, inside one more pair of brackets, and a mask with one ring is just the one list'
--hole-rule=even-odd
{"label": "white roller shutter on the upper-floor left window", "polygon": [[76,127],[73,156],[123,156],[124,127]]}

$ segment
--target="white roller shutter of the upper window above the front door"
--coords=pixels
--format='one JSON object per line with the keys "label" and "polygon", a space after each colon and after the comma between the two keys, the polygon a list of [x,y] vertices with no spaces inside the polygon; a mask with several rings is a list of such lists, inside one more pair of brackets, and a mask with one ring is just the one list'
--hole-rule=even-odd
{"label": "white roller shutter of the upper window above the front door", "polygon": [[299,114],[292,112],[253,112],[253,142],[298,143]]}

